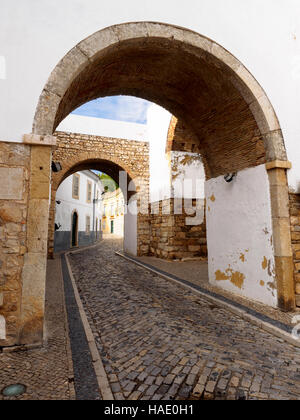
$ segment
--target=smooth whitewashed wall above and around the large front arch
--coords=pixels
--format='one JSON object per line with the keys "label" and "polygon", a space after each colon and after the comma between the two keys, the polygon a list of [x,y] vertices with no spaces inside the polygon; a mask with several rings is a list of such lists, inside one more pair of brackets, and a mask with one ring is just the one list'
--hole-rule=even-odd
{"label": "smooth whitewashed wall above and around the large front arch", "polygon": [[11,0],[0,2],[2,141],[30,133],[39,95],[56,64],[104,27],[157,21],[201,33],[234,54],[265,89],[278,114],[300,191],[299,0]]}

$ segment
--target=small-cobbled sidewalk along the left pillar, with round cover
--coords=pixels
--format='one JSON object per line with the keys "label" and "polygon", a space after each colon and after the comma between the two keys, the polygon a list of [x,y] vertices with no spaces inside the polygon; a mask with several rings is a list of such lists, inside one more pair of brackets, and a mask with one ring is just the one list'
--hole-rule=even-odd
{"label": "small-cobbled sidewalk along the left pillar, with round cover", "polygon": [[51,282],[47,282],[45,347],[0,354],[0,392],[8,385],[20,383],[26,386],[26,393],[14,398],[0,393],[0,400],[75,399],[59,269],[57,261],[48,262]]}

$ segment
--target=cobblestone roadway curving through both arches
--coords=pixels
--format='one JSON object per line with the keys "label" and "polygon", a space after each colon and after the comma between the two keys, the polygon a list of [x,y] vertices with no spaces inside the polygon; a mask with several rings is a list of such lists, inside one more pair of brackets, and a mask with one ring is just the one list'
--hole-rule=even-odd
{"label": "cobblestone roadway curving through both arches", "polygon": [[116,399],[300,399],[300,350],[114,254],[70,256]]}

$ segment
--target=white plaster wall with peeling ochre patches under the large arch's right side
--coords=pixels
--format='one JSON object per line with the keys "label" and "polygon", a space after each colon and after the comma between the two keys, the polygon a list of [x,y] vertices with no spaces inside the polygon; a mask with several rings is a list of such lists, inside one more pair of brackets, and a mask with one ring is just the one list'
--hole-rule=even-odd
{"label": "white plaster wall with peeling ochre patches under the large arch's right side", "polygon": [[264,165],[231,183],[206,182],[209,281],[225,290],[277,306],[270,190]]}

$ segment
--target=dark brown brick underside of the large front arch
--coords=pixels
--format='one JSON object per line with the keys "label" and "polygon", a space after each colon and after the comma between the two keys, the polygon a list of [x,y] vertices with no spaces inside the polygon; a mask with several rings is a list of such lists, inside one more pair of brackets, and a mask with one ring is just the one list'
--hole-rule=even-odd
{"label": "dark brown brick underside of the large front arch", "polygon": [[141,97],[168,109],[195,133],[207,177],[216,177],[264,161],[259,128],[231,78],[208,54],[182,51],[174,41],[127,41],[78,75],[60,102],[55,126],[98,97]]}

